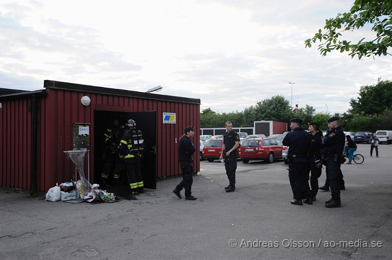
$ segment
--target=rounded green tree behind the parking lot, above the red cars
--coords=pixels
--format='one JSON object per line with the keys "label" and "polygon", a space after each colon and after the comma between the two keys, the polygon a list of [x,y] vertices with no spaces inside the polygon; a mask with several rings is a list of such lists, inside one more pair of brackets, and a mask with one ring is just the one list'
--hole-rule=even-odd
{"label": "rounded green tree behind the parking lot, above the red cars", "polygon": [[290,102],[281,95],[264,99],[254,107],[254,121],[288,121],[291,115]]}

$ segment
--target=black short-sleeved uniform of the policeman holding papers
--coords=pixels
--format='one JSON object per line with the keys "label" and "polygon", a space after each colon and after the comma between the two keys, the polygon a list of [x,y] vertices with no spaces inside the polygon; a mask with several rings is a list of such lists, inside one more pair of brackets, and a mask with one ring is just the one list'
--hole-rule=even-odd
{"label": "black short-sleeved uniform of the policeman holding papers", "polygon": [[226,132],[223,135],[223,144],[224,149],[223,156],[225,156],[224,160],[224,168],[226,170],[227,178],[229,179],[229,186],[226,187],[226,192],[231,192],[236,189],[236,170],[237,170],[237,149],[230,152],[229,156],[226,156],[226,152],[232,150],[235,146],[236,142],[240,142],[240,135],[235,131]]}

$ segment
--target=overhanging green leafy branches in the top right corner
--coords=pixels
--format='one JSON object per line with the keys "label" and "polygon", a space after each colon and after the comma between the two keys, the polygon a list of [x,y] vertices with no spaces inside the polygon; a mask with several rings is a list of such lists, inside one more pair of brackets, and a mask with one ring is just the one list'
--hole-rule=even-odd
{"label": "overhanging green leafy branches in the top right corner", "polygon": [[[338,40],[343,31],[354,31],[367,23],[372,24],[371,30],[376,33],[374,40],[364,41],[365,38],[362,38],[358,43]],[[358,55],[359,59],[363,56],[374,58],[375,55],[392,55],[388,53],[388,47],[392,46],[392,1],[355,0],[349,12],[325,20],[324,29],[325,32],[319,29],[312,39],[307,39],[305,47],[312,47],[311,42],[319,40],[324,41],[318,48],[322,56],[331,50],[347,51],[351,58]]]}

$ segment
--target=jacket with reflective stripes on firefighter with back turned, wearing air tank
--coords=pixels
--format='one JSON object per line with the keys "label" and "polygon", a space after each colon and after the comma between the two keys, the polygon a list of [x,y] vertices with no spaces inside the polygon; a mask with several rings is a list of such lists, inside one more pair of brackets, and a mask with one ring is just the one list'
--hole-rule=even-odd
{"label": "jacket with reflective stripes on firefighter with back turned, wearing air tank", "polygon": [[120,141],[120,158],[125,162],[133,161],[135,158],[143,158],[144,140],[142,132],[136,129],[127,129],[124,131]]}

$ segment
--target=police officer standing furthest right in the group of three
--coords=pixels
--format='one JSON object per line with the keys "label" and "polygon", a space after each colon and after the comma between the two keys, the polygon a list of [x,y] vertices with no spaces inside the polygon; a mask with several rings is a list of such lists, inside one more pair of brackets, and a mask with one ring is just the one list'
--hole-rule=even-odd
{"label": "police officer standing furthest right in the group of three", "polygon": [[329,131],[321,139],[321,143],[322,156],[327,165],[327,179],[332,198],[325,201],[325,207],[337,208],[341,206],[340,187],[343,182],[343,174],[340,166],[345,136],[339,125],[339,118],[336,116],[328,119],[328,128]]}

